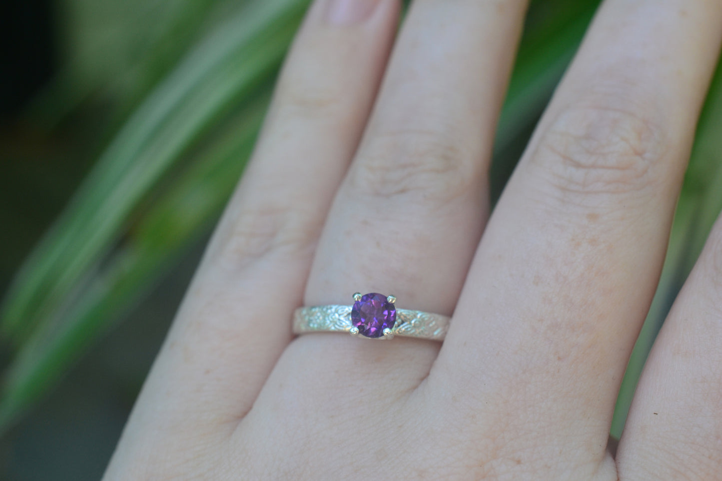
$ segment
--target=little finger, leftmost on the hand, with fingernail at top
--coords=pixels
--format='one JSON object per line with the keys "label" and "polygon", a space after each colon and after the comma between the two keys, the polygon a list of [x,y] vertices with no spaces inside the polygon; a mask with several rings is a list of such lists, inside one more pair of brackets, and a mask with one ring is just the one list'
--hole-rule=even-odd
{"label": "little finger, leftmost on the hand, with fingernail at top", "polygon": [[332,3],[316,1],[297,35],[251,165],[148,378],[134,428],[233,425],[290,340],[288,320],[398,14],[393,0],[345,2],[345,11],[331,11]]}

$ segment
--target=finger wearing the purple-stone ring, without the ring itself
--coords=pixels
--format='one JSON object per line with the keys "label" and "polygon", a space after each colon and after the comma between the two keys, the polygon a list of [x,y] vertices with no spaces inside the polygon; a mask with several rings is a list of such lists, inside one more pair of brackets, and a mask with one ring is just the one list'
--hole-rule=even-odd
{"label": "finger wearing the purple-stone ring, without the ring itself", "polygon": [[[319,241],[306,305],[349,304],[360,291],[396,295],[400,308],[453,311],[487,214],[495,122],[524,9],[523,1],[412,4]],[[297,389],[352,391],[334,381],[347,376],[338,367],[365,365],[352,383],[373,377],[396,392],[416,386],[437,352],[417,339],[305,334],[279,369],[308,373],[293,376]],[[388,382],[379,364],[393,365],[382,370]]]}

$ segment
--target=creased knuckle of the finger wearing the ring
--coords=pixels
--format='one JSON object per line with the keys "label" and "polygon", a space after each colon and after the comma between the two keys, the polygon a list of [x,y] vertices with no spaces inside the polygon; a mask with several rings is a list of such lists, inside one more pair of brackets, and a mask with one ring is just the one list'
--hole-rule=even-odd
{"label": "creased knuckle of the finger wearing the ring", "polygon": [[350,182],[362,196],[448,202],[474,186],[474,156],[445,134],[404,129],[375,136],[362,149]]}

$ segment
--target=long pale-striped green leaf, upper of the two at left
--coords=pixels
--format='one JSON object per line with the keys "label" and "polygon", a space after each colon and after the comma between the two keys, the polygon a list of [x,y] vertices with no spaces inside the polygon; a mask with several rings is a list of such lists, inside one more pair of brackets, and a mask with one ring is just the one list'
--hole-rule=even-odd
{"label": "long pale-striped green leaf, upper of the two at left", "polygon": [[268,81],[305,8],[302,0],[243,9],[152,92],[97,162],[9,290],[0,329],[19,344],[51,316],[113,245],[134,207],[181,153],[227,110]]}

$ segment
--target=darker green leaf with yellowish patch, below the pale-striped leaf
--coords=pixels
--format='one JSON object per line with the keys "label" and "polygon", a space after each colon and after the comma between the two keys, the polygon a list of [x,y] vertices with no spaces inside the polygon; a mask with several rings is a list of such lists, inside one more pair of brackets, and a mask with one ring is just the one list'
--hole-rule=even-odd
{"label": "darker green leaf with yellowish patch, below the pale-striped leaf", "polygon": [[269,97],[268,89],[259,92],[212,142],[194,152],[199,160],[140,215],[121,245],[77,282],[64,306],[32,332],[6,373],[0,431],[57,384],[98,336],[204,238],[251,153]]}

